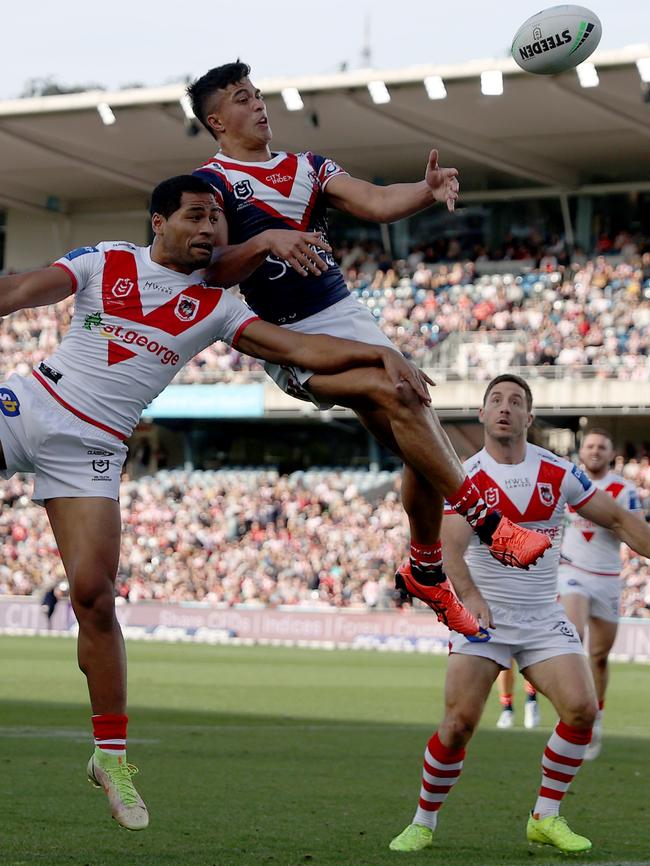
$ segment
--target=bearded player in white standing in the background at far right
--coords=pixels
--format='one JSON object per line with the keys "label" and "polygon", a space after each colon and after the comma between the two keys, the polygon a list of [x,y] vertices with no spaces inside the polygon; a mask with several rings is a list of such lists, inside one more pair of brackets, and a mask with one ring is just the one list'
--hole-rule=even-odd
{"label": "bearded player in white standing in the background at far right", "polygon": [[[588,430],[580,446],[580,461],[594,487],[603,490],[621,508],[644,520],[634,485],[610,470],[614,443],[606,430]],[[600,754],[605,692],[609,679],[608,657],[616,640],[621,595],[621,542],[609,529],[585,520],[571,508],[562,540],[558,591],[571,622],[584,640],[589,628],[589,664],[596,684],[598,714],[591,743],[585,754]]]}

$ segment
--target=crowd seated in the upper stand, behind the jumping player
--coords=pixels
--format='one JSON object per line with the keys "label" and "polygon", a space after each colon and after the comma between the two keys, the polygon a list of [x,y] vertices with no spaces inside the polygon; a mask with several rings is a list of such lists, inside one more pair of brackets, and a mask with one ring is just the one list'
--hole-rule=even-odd
{"label": "crowd seated in the upper stand, behind the jumping player", "polygon": [[[511,247],[506,244],[506,258],[499,263],[506,271],[491,275],[479,275],[482,249],[475,250],[473,258],[452,261],[459,252],[456,243],[452,239],[446,249],[417,249],[397,262],[372,245],[339,251],[350,290],[409,358],[423,365],[435,363],[439,369],[432,353],[454,334],[465,347],[447,359],[449,375],[487,379],[503,372],[500,361],[508,369],[575,372],[580,367],[598,377],[650,377],[647,242],[625,233],[613,241],[603,237],[597,249],[607,256],[586,259],[578,254],[570,261],[561,254],[560,242],[530,260],[529,248],[513,242]],[[526,262],[530,266],[524,266]],[[55,308],[16,313],[0,323],[5,365],[27,372],[33,361],[52,352],[68,327],[71,309],[70,300]],[[505,351],[497,354],[499,343]],[[176,381],[245,381],[259,375],[257,361],[215,344],[197,355]]]}

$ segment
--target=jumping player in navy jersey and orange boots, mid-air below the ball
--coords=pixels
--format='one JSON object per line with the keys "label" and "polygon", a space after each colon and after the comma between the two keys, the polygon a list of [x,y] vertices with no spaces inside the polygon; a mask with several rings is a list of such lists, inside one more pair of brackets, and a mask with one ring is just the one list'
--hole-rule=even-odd
{"label": "jumping player in navy jersey and orange boots, mid-air below the ball", "polygon": [[[436,202],[453,211],[456,169],[440,168],[432,150],[423,180],[381,187],[311,152],[274,153],[266,106],[249,75],[250,67],[238,61],[210,70],[188,88],[194,113],[219,144],[217,155],[195,171],[213,185],[225,217],[209,279],[226,286],[239,283],[260,317],[285,328],[391,345],[370,312],[350,295],[332,258],[326,208],[377,222]],[[402,499],[411,550],[398,571],[398,588],[421,598],[448,625],[466,634],[476,631],[477,618],[458,602],[442,571],[443,498],[504,564],[532,565],[548,539],[490,509],[433,412],[424,410],[408,388],[398,398],[389,394],[380,371],[324,376],[271,364],[266,370],[289,394],[321,408],[353,409],[404,460]]]}

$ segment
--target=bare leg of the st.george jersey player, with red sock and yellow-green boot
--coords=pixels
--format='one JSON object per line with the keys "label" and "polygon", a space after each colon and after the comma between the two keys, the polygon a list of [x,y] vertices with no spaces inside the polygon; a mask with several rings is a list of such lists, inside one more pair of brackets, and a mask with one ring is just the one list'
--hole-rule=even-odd
{"label": "bare leg of the st.george jersey player, with red sock and yellow-green boot", "polygon": [[79,622],[77,657],[92,706],[95,751],[88,778],[103,787],[115,820],[143,830],[149,815],[126,759],[126,654],[115,616],[120,552],[119,503],[104,497],[49,499],[46,509]]}

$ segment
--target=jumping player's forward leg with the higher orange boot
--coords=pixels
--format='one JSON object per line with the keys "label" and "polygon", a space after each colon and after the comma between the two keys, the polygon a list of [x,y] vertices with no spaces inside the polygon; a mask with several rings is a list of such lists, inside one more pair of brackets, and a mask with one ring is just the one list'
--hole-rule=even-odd
{"label": "jumping player's forward leg with the higher orange boot", "polygon": [[511,523],[488,508],[466,476],[435,413],[406,383],[396,389],[383,370],[364,368],[314,375],[309,390],[323,403],[338,403],[360,417],[381,410],[404,461],[462,514],[492,556],[504,565],[527,568],[548,549],[541,533]]}

